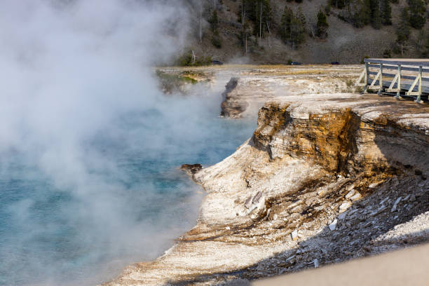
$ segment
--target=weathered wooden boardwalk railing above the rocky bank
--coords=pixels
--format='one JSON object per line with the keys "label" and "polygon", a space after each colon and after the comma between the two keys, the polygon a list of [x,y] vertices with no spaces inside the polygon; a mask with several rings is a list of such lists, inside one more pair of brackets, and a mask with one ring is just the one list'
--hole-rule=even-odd
{"label": "weathered wooden boardwalk railing above the rocky bank", "polygon": [[[416,102],[429,94],[429,77],[423,76],[429,73],[428,59],[365,59],[364,62],[365,68],[357,79],[357,86],[365,86],[363,93],[376,90],[379,95],[396,93],[396,98],[400,98],[403,92],[404,96],[416,97]],[[386,70],[396,72],[391,74]]]}

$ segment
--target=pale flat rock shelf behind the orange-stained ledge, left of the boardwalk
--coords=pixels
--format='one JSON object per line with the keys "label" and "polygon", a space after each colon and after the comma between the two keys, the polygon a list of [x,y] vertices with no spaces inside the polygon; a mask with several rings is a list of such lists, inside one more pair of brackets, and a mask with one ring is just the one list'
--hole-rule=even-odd
{"label": "pale flat rock shelf behind the orange-stained ledge, left of the boardwalk", "polygon": [[267,100],[314,93],[350,93],[362,67],[267,67],[231,77],[222,93],[221,116],[256,116]]}

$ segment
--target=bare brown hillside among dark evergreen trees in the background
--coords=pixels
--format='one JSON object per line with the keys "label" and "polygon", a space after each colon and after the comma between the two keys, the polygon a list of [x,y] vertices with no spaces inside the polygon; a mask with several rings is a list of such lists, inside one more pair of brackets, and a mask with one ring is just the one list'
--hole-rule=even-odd
{"label": "bare brown hillside among dark evergreen trees in the background", "polygon": [[[374,29],[371,26],[355,28],[348,22],[340,20],[336,15],[341,11],[332,8],[332,14],[327,18],[329,29],[327,39],[311,38],[306,36],[306,42],[298,49],[293,49],[280,40],[278,31],[273,28],[271,36],[252,44],[252,39],[248,41],[247,53],[244,53],[238,35],[241,31],[241,24],[238,22],[238,11],[240,1],[224,0],[222,9],[219,11],[219,35],[222,39],[222,48],[215,48],[212,45],[212,32],[207,25],[204,29],[203,41],[197,39],[196,27],[191,27],[189,43],[187,48],[194,50],[197,56],[210,55],[214,60],[221,60],[229,63],[259,63],[259,64],[285,64],[288,60],[304,62],[306,64],[322,64],[332,61],[339,61],[343,64],[358,64],[366,55],[369,57],[383,57],[386,49],[393,49],[396,41],[395,27],[400,22],[399,15],[407,1],[400,0],[399,4],[391,4],[393,25],[383,26],[381,29]],[[280,18],[285,5],[297,11],[298,8],[306,15],[308,29],[315,26],[317,13],[320,7],[326,5],[326,0],[303,1],[301,4],[290,3],[285,0],[273,0],[273,18],[280,23]],[[427,23],[426,29],[429,27]],[[308,33],[310,34],[310,33]],[[407,50],[403,57],[418,57],[416,50],[416,39],[418,31],[411,30],[411,40],[407,44]]]}

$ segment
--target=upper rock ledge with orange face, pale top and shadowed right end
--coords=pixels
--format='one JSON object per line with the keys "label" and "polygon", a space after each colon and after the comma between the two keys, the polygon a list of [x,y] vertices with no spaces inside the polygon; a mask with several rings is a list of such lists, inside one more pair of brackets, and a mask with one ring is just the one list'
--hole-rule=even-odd
{"label": "upper rock ledge with orange face, pale top and shadowed right end", "polygon": [[[428,163],[422,147],[429,142],[425,133],[429,118],[423,122],[424,117],[418,118],[426,116],[419,114],[422,109],[409,102],[402,103],[403,108],[416,112],[417,118],[385,104],[267,102],[259,110],[254,144],[267,151],[271,159],[304,158],[341,175],[393,174],[404,165],[422,172]],[[415,128],[421,123],[422,127]]]}

